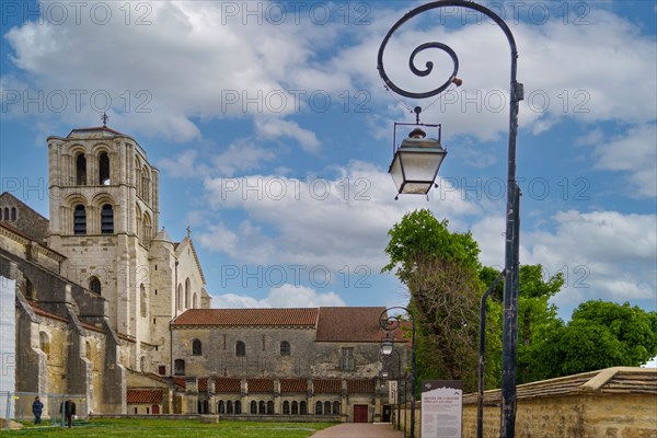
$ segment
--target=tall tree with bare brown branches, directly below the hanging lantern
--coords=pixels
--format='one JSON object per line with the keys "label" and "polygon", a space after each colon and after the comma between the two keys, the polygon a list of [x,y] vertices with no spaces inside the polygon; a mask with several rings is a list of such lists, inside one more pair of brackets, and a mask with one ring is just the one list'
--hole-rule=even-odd
{"label": "tall tree with bare brown branches, directly below the hanging lantern", "polygon": [[404,216],[389,231],[382,272],[395,274],[408,288],[416,314],[419,379],[461,379],[476,388],[479,245],[471,233],[450,232],[448,221],[428,209]]}

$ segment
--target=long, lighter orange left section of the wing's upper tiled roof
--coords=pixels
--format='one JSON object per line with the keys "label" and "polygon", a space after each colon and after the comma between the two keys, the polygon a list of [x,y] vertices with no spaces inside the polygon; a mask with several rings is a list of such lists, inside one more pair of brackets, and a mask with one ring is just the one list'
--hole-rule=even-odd
{"label": "long, lighter orange left section of the wing's upper tiled roof", "polygon": [[189,309],[172,325],[314,326],[319,309]]}

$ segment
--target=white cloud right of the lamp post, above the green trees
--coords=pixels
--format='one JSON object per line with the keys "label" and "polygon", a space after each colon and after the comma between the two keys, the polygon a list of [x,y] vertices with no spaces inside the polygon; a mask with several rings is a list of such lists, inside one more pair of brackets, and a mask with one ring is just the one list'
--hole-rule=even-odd
{"label": "white cloud right of the lamp post, above the green trees", "polygon": [[562,273],[566,285],[557,303],[588,299],[655,302],[657,217],[618,211],[561,211],[554,232],[521,234],[522,264]]}

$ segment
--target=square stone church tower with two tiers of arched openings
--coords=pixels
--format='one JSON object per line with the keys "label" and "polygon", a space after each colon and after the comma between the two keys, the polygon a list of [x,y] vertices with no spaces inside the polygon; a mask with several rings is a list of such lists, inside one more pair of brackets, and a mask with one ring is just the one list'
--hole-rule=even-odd
{"label": "square stone church tower with two tiers of arched openings", "polygon": [[107,300],[119,334],[149,343],[159,171],[134,138],[106,125],[48,137],[48,169],[49,245],[67,256],[62,275]]}

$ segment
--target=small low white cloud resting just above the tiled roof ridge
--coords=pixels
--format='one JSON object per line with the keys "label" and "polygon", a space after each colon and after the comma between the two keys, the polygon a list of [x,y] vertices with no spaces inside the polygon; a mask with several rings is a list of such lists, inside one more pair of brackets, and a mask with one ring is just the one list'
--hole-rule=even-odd
{"label": "small low white cloud resting just above the tiled roof ridge", "polygon": [[254,309],[254,308],[319,308],[343,307],[345,301],[335,292],[318,292],[300,285],[281,285],[269,289],[266,298],[256,299],[245,295],[222,293],[212,297],[215,308]]}

